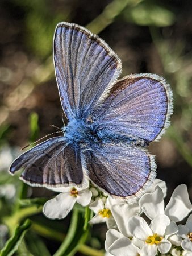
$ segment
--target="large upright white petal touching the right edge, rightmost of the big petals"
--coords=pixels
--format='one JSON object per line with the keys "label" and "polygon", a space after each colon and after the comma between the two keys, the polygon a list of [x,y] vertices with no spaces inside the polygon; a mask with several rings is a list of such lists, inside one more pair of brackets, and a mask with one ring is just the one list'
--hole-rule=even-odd
{"label": "large upright white petal touching the right edge, rightmost of the big petals", "polygon": [[183,220],[190,211],[192,205],[189,200],[187,186],[185,184],[178,185],[173,191],[172,197],[165,208],[165,214],[175,222]]}

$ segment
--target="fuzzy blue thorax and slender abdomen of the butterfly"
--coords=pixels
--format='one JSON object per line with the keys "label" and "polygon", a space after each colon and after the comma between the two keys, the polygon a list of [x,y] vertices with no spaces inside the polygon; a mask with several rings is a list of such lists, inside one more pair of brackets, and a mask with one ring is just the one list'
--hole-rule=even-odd
{"label": "fuzzy blue thorax and slender abdomen of the butterfly", "polygon": [[90,117],[87,119],[72,119],[68,125],[62,127],[64,138],[67,143],[76,145],[87,145],[92,143],[116,143],[129,144],[137,147],[148,146],[148,143],[139,137],[128,134],[120,134],[115,129],[100,129],[99,123],[94,122]]}

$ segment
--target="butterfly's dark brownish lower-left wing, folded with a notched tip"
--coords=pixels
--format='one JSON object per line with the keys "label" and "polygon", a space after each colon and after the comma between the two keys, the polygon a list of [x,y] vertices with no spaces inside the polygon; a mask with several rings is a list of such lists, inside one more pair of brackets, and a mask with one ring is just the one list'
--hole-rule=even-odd
{"label": "butterfly's dark brownish lower-left wing, folded with a notched tip", "polygon": [[20,155],[10,166],[11,174],[24,169],[21,179],[41,187],[61,187],[83,181],[80,150],[54,137]]}

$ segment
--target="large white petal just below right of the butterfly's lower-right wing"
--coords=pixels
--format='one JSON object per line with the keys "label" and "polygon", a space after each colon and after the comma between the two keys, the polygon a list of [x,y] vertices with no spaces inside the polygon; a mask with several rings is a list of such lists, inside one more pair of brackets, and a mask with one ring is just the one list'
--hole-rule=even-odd
{"label": "large white petal just below right of the butterfly's lower-right wing", "polygon": [[139,205],[150,220],[158,214],[164,214],[164,195],[161,188],[156,187],[154,192],[141,196]]}

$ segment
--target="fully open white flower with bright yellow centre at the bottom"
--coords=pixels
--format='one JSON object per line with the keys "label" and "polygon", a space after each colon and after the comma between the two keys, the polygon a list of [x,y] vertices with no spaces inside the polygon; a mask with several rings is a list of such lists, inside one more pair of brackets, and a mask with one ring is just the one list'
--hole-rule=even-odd
{"label": "fully open white flower with bright yellow centre at the bottom", "polygon": [[168,253],[172,245],[165,238],[165,230],[169,224],[170,220],[164,214],[156,216],[150,226],[140,216],[133,216],[128,220],[132,236],[143,242],[139,249],[140,256],[155,256],[157,249],[162,254]]}

